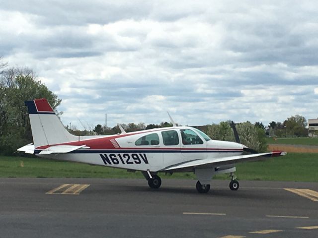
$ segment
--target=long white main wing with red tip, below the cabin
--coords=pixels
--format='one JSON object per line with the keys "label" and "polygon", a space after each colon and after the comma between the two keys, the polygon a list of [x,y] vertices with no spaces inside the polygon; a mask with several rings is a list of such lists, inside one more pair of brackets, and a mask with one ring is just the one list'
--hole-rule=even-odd
{"label": "long white main wing with red tip, below the cabin", "polygon": [[176,164],[172,166],[168,166],[164,168],[163,171],[167,172],[177,172],[182,171],[184,169],[195,169],[195,168],[212,168],[217,166],[224,166],[224,165],[232,165],[239,162],[245,161],[258,161],[263,160],[266,157],[277,157],[286,155],[286,152],[283,151],[273,151],[269,153],[260,153],[260,154],[251,154],[251,155],[238,155],[238,156],[229,156],[229,157],[222,157],[222,158],[211,158],[211,159],[203,159],[203,160],[195,160],[190,162],[184,162],[181,164]]}

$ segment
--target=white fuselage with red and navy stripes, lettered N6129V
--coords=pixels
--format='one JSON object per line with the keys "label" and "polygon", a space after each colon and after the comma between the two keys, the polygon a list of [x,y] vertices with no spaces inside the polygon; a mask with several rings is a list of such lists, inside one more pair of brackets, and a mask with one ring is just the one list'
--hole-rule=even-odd
{"label": "white fuselage with red and navy stripes, lettered N6129V", "polygon": [[[187,144],[182,141],[181,131],[187,130],[196,133],[199,142]],[[177,135],[173,145],[165,145],[162,132],[174,132]],[[112,135],[69,142],[69,145],[85,144],[89,149],[79,149],[68,154],[35,154],[44,158],[81,162],[100,166],[109,166],[136,171],[157,172],[165,168],[193,160],[206,158],[221,158],[241,155],[243,145],[235,142],[208,140],[206,141],[198,130],[188,126],[165,127],[146,131],[131,132],[122,135]],[[136,145],[136,141],[144,136],[154,134],[159,141],[153,145]],[[159,143],[158,143],[159,142]],[[45,149],[46,147],[43,147]],[[190,170],[191,171],[191,170]]]}

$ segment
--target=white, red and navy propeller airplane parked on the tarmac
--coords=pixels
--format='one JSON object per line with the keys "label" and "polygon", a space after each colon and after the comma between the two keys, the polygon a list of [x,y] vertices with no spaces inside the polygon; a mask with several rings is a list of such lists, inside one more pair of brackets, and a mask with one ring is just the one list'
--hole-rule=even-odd
{"label": "white, red and navy propeller airplane parked on the tarmac", "polygon": [[[75,136],[64,127],[44,98],[26,101],[33,142],[17,151],[42,158],[80,162],[140,171],[148,185],[161,185],[158,173],[193,172],[196,190],[207,193],[214,175],[230,174],[230,189],[238,190],[235,165],[245,161],[284,156],[283,151],[246,154],[252,150],[236,142],[212,140],[199,129],[189,126],[154,128],[102,136]],[[245,153],[245,154],[244,154]]]}

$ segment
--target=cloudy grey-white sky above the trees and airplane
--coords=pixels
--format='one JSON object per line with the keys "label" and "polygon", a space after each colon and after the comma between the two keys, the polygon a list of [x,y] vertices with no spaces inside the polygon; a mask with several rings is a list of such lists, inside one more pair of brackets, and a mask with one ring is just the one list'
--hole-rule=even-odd
{"label": "cloudy grey-white sky above the trees and airplane", "polygon": [[64,124],[318,117],[316,0],[12,0],[0,26]]}

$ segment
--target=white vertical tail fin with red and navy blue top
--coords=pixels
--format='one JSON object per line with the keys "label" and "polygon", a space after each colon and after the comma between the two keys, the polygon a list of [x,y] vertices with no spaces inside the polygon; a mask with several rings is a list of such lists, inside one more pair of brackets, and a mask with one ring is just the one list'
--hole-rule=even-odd
{"label": "white vertical tail fin with red and navy blue top", "polygon": [[35,148],[77,140],[70,134],[44,98],[25,101],[28,107]]}

